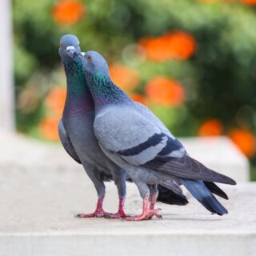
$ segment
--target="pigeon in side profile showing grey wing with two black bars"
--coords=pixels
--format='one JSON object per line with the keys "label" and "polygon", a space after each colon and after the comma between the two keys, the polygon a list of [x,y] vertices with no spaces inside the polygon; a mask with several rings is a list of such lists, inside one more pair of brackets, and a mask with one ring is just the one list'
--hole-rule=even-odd
{"label": "pigeon in side profile showing grey wing with two black bars", "polygon": [[214,182],[236,182],[191,158],[182,143],[146,106],[138,105],[112,82],[101,54],[86,52],[83,66],[94,99],[94,134],[108,158],[126,170],[143,199],[142,214],[126,220],[161,218],[154,206],[157,186],[166,187],[166,182],[184,185],[212,214],[227,214],[211,191],[227,198]]}

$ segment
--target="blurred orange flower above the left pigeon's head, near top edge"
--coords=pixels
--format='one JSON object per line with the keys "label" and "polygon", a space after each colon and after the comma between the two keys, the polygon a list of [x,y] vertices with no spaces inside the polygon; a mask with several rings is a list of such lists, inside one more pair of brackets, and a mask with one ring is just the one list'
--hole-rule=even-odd
{"label": "blurred orange flower above the left pigeon's head, near top edge", "polygon": [[60,0],[52,8],[52,15],[59,25],[73,25],[82,18],[85,8],[78,0]]}

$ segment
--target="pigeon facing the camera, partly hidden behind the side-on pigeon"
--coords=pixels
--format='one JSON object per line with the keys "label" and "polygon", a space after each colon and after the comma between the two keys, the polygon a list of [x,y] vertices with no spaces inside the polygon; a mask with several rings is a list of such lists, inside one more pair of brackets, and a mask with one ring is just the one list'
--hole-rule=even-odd
{"label": "pigeon facing the camera, partly hidden behind the side-on pigeon", "polygon": [[[82,66],[84,53],[80,50],[78,38],[72,34],[64,35],[60,40],[59,54],[66,73],[67,94],[62,119],[58,123],[58,134],[62,146],[71,158],[82,164],[98,194],[94,213],[77,216],[125,218],[126,180],[130,181],[130,178],[124,169],[106,157],[94,136],[94,102],[86,85]],[[102,209],[104,182],[112,180],[118,187],[119,207],[116,214],[107,213]],[[177,182],[166,182],[165,186],[158,186],[158,190],[160,202],[179,206],[188,203]]]}

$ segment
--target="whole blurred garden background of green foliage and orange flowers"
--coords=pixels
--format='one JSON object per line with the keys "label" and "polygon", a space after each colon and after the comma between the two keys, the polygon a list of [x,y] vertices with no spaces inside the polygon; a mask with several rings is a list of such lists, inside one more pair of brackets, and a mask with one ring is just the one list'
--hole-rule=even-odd
{"label": "whole blurred garden background of green foliage and orange flowers", "polygon": [[13,0],[12,10],[19,132],[58,142],[58,44],[75,34],[176,136],[230,137],[256,179],[256,0]]}

